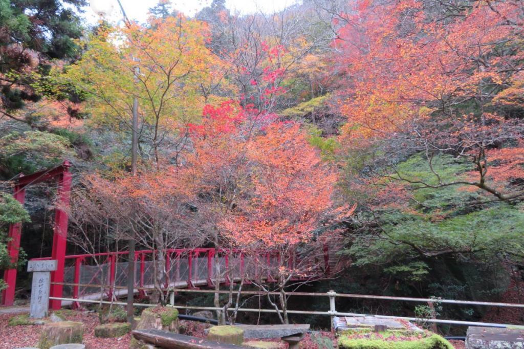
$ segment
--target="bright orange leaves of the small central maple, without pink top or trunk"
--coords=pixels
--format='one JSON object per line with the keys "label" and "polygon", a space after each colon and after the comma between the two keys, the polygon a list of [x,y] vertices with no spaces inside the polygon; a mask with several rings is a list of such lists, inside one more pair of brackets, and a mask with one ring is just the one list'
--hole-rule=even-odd
{"label": "bright orange leaves of the small central maple, without pink top or trunk", "polygon": [[296,245],[319,228],[335,174],[296,124],[273,124],[247,145],[251,192],[222,226],[240,245]]}

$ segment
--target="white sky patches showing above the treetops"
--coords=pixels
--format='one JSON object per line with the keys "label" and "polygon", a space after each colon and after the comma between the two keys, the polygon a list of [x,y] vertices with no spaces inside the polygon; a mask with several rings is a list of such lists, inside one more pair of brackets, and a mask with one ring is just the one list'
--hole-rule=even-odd
{"label": "white sky patches showing above the treetops", "polygon": [[[111,6],[112,21],[118,21],[122,16],[118,8],[117,0],[91,0],[101,4],[99,6]],[[212,0],[171,0],[173,9],[177,9],[185,15],[192,16],[205,6],[209,6]],[[121,0],[124,10],[131,20],[138,20],[143,23],[147,19],[147,12],[150,7],[155,6],[158,0]],[[226,0],[226,7],[242,14],[255,12],[272,13],[279,11],[289,5],[296,3],[297,0]],[[93,10],[86,8],[84,16],[91,23],[96,23],[98,16]]]}

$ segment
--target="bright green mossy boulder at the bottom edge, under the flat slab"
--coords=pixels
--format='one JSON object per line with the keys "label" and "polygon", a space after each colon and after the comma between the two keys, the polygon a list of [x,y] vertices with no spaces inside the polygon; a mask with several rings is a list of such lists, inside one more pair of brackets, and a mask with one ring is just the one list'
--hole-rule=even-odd
{"label": "bright green mossy boulder at the bottom edge, under the flat slab", "polygon": [[339,348],[344,349],[453,349],[453,345],[438,334],[401,335],[389,331],[366,334],[343,334]]}

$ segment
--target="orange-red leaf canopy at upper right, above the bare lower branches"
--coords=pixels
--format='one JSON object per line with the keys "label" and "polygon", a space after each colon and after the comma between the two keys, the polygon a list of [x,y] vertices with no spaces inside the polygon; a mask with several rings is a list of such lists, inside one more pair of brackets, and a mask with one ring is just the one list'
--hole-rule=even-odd
{"label": "orange-red leaf canopy at upper right, above the bare lower branches", "polygon": [[369,139],[401,131],[406,121],[478,96],[482,86],[493,97],[519,71],[522,53],[495,50],[521,36],[519,2],[475,2],[447,18],[423,4],[359,1],[344,15],[335,45],[352,77],[339,101],[346,134]]}

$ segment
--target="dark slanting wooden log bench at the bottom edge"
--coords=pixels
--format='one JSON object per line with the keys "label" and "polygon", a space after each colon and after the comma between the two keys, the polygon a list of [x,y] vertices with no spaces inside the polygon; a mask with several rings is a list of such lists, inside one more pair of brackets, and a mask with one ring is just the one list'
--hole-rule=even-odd
{"label": "dark slanting wooden log bench at the bottom edge", "polygon": [[239,349],[242,346],[208,341],[197,337],[161,330],[135,330],[133,336],[165,349]]}

